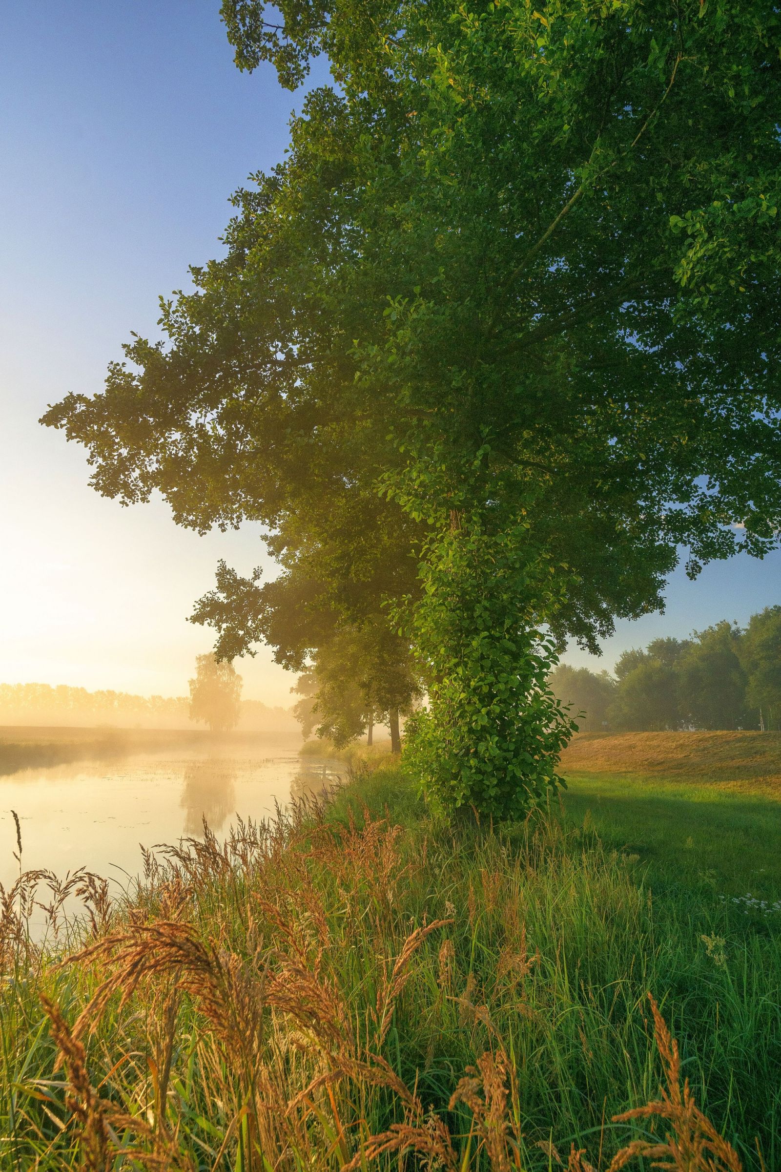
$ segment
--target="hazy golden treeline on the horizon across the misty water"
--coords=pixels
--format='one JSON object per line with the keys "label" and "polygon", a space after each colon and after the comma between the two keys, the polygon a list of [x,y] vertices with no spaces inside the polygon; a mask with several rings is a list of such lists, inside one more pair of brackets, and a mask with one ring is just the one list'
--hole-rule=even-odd
{"label": "hazy golden treeline on the horizon across the misty water", "polygon": [[[135,696],[88,691],[67,684],[0,683],[0,724],[108,728],[194,728],[189,696]],[[259,700],[241,701],[239,729],[247,732],[297,730],[293,714]]]}

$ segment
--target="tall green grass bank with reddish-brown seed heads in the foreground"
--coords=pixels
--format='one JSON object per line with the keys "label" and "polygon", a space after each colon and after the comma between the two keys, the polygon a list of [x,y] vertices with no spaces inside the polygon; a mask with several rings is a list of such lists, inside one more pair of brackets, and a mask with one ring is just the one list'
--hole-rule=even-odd
{"label": "tall green grass bank with reddish-brown seed heads in the foreground", "polygon": [[[384,1144],[396,1167],[407,1144],[453,1172],[542,1172],[553,1140],[603,1168],[670,1130],[612,1122],[658,1097],[651,992],[699,1105],[747,1168],[781,1167],[781,917],[674,866],[649,887],[594,830],[625,837],[604,817],[624,783],[585,772],[566,800],[598,792],[591,825],[454,833],[381,766],[321,819],[169,852],[125,907],[88,894],[93,950],[60,968],[14,938],[9,902],[0,1166],[143,1166],[143,1151],[171,1168],[338,1168]],[[66,1023],[82,1013],[80,1043]]]}

